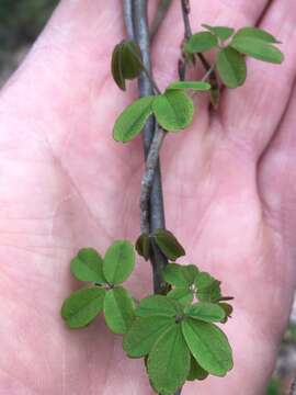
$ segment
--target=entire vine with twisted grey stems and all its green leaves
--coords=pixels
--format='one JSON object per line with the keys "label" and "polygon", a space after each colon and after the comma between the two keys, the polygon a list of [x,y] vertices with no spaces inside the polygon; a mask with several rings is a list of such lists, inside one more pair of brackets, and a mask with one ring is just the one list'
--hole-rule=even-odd
{"label": "entire vine with twisted grey stems and all its green leaves", "polygon": [[[192,34],[189,2],[182,0],[185,40],[179,65],[181,80],[161,91],[152,77],[149,50],[143,49],[149,48],[147,23],[141,23],[146,2],[136,1],[135,9],[130,4],[125,3],[129,37],[115,46],[111,68],[122,90],[126,90],[128,80],[140,78],[141,98],[119,114],[113,137],[128,143],[145,131],[141,234],[135,245],[114,241],[104,258],[92,248],[78,251],[70,263],[71,273],[88,285],[64,302],[61,316],[70,328],[81,328],[103,312],[107,327],[123,336],[127,357],[144,360],[155,392],[171,395],[180,393],[186,381],[205,380],[210,374],[225,376],[232,369],[230,345],[217,326],[231,317],[232,297],[224,296],[220,282],[195,264],[175,263],[185,256],[185,249],[164,227],[159,154],[164,137],[192,124],[196,110],[193,95],[208,94],[217,106],[224,87],[234,89],[244,83],[246,55],[273,64],[281,64],[284,56],[276,46],[278,41],[257,27],[235,31],[203,24],[202,31]],[[141,18],[136,21],[134,13]],[[215,54],[213,64],[204,54],[208,50]],[[201,80],[184,80],[186,69],[196,67],[197,59],[205,76]],[[123,285],[135,268],[136,251],[151,261],[158,293],[140,301]]]}

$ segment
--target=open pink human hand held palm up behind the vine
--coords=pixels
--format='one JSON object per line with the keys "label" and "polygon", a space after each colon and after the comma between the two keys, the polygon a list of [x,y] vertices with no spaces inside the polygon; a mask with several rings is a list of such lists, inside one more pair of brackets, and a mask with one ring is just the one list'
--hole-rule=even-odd
{"label": "open pink human hand held palm up behind the vine", "polygon": [[[210,119],[198,97],[193,125],[170,134],[161,154],[167,226],[186,248],[183,262],[235,296],[225,326],[235,369],[182,394],[262,395],[295,289],[296,3],[192,1],[191,20],[194,31],[259,24],[284,43],[285,63],[248,60],[246,86],[225,91]],[[174,1],[152,47],[162,89],[177,79],[182,35]],[[123,36],[119,0],[61,1],[1,92],[0,394],[152,394],[143,363],[125,357],[102,318],[75,331],[59,317],[81,286],[69,272],[77,250],[104,253],[139,234],[141,142],[112,139],[137,93],[135,82],[121,92],[110,75]],[[147,263],[128,285],[136,297],[151,292]]]}

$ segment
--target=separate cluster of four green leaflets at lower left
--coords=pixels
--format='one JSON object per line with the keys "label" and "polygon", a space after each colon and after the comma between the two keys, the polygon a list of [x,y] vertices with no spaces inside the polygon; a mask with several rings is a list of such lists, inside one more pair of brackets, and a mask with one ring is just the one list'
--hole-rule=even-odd
{"label": "separate cluster of four green leaflets at lower left", "polygon": [[71,272],[91,285],[64,302],[61,316],[69,327],[84,327],[104,311],[109,328],[114,334],[125,334],[134,319],[135,302],[121,284],[134,267],[134,247],[126,240],[113,242],[104,259],[92,248],[81,249],[71,260]]}

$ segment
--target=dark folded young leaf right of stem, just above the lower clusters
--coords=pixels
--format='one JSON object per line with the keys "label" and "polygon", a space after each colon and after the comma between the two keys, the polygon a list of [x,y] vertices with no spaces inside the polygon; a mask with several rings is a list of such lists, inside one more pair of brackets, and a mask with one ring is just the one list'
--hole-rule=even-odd
{"label": "dark folded young leaf right of stem, just above the lower clusters", "polygon": [[157,229],[153,238],[161,252],[170,260],[175,261],[185,255],[184,248],[178,241],[175,236],[167,229]]}

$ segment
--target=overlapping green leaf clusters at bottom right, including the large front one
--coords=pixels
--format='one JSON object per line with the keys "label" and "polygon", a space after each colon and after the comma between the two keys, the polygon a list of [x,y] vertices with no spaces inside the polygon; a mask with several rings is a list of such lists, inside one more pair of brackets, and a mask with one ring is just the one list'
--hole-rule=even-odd
{"label": "overlapping green leaf clusters at bottom right, including the large front one", "polygon": [[186,380],[232,369],[231,348],[215,325],[226,323],[232,308],[221,303],[220,283],[193,264],[170,263],[163,274],[173,290],[140,301],[123,347],[130,358],[146,358],[151,386],[170,395]]}

